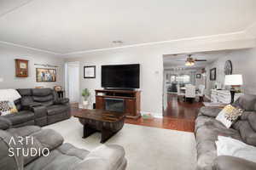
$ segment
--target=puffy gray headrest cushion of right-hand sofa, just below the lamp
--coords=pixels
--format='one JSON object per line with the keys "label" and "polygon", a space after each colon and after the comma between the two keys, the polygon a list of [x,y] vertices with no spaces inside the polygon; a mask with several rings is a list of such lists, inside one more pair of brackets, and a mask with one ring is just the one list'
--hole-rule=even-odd
{"label": "puffy gray headrest cushion of right-hand sofa, just below the lamp", "polygon": [[244,111],[256,111],[255,104],[256,95],[245,94],[236,99],[236,102],[233,105],[241,108]]}

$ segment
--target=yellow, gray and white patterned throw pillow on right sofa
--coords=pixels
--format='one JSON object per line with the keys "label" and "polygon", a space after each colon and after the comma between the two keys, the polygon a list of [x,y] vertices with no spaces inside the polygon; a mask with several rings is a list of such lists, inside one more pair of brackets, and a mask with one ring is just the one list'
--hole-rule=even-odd
{"label": "yellow, gray and white patterned throw pillow on right sofa", "polygon": [[230,128],[232,123],[241,116],[242,110],[232,105],[226,105],[222,111],[218,113],[216,120],[222,122],[225,127]]}

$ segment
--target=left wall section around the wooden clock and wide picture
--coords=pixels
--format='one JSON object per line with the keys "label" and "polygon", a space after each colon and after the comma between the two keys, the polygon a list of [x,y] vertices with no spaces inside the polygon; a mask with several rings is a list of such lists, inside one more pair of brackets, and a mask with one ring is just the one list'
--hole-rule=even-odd
{"label": "left wall section around the wooden clock and wide picture", "polygon": [[[28,77],[15,77],[15,59],[28,59]],[[58,65],[56,82],[37,82],[36,68],[34,64]],[[45,88],[53,88],[55,85],[63,86],[64,59],[56,57],[54,54],[46,54],[27,48],[19,48],[0,44],[0,88],[35,88],[36,86],[44,86]],[[43,67],[40,67],[43,68]]]}

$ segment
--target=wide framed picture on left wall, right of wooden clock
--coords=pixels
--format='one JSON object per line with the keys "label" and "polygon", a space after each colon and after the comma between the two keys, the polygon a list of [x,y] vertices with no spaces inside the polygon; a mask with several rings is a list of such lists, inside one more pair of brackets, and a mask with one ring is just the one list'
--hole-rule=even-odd
{"label": "wide framed picture on left wall, right of wooden clock", "polygon": [[37,82],[56,82],[56,69],[37,68]]}

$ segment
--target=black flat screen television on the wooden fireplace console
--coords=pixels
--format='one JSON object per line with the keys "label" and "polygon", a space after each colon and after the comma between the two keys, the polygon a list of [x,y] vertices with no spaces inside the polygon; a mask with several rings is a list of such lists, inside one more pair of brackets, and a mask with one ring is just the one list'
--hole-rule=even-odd
{"label": "black flat screen television on the wooden fireplace console", "polygon": [[102,65],[102,88],[140,88],[140,65]]}

